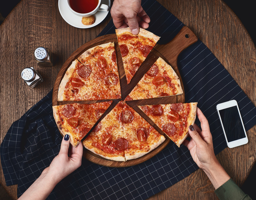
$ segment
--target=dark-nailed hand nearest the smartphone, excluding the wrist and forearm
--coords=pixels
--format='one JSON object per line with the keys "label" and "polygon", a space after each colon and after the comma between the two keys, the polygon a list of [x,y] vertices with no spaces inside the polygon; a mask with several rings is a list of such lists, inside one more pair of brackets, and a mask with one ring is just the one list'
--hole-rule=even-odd
{"label": "dark-nailed hand nearest the smartphone, excluding the wrist and forearm", "polygon": [[214,154],[208,120],[199,108],[197,108],[197,116],[201,122],[202,130],[196,124],[190,125],[188,132],[191,139],[190,141],[184,140],[182,144],[188,148],[198,167],[207,170],[219,162]]}

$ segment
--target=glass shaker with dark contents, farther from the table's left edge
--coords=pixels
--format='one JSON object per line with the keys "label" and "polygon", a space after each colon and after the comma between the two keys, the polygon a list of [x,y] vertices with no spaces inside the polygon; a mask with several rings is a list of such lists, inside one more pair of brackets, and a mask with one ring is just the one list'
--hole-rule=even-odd
{"label": "glass shaker with dark contents, farther from the table's left edge", "polygon": [[39,67],[53,66],[53,55],[48,48],[37,47],[34,56]]}

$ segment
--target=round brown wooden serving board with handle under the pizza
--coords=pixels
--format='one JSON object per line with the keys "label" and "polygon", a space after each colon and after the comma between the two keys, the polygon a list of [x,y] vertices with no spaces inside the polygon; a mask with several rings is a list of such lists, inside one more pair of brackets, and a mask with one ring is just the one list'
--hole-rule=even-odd
{"label": "round brown wooden serving board with handle under the pizza", "polygon": [[[117,36],[116,34],[110,34],[110,35],[104,35],[101,37],[98,37],[94,40],[91,40],[90,42],[80,46],[72,55],[66,60],[66,62],[63,64],[62,68],[60,69],[56,81],[54,83],[53,87],[53,106],[54,105],[63,105],[67,103],[74,103],[75,101],[57,101],[58,96],[58,88],[59,84],[63,78],[63,76],[66,73],[66,70],[68,67],[72,64],[72,62],[77,59],[84,51],[87,49],[109,43],[114,42],[115,48],[116,48],[116,54],[117,54],[117,67],[119,71],[119,78],[120,78],[120,85],[121,85],[121,93],[122,93],[122,100],[126,98],[126,96],[132,91],[132,89],[137,85],[139,80],[144,76],[144,74],[149,70],[149,68],[156,62],[156,60],[161,57],[164,59],[168,64],[172,66],[174,71],[177,73],[181,80],[181,76],[178,70],[177,66],[177,58],[178,55],[188,46],[192,45],[197,41],[197,37],[195,34],[186,26],[182,27],[181,31],[176,35],[176,37],[169,43],[165,45],[156,45],[152,51],[147,56],[146,60],[141,64],[139,67],[137,73],[132,78],[130,84],[127,84],[126,76],[124,73],[123,63],[122,63],[122,57],[120,53],[120,49],[117,42]],[[181,80],[181,86],[184,92],[183,83]],[[95,103],[95,102],[102,102],[106,100],[94,100],[94,101],[79,101],[79,103]],[[106,112],[101,116],[101,118],[98,120],[100,121],[102,118],[104,118],[119,102],[120,100],[113,100],[113,103],[110,105],[110,107],[106,110]],[[157,155],[166,145],[170,142],[169,137],[167,137],[161,130],[158,128],[150,118],[148,118],[138,107],[137,105],[153,105],[153,104],[167,104],[167,103],[177,103],[185,101],[185,95],[184,93],[181,95],[176,96],[170,96],[170,97],[162,97],[162,98],[154,98],[154,99],[146,99],[146,100],[134,100],[134,101],[127,101],[126,103],[130,105],[136,112],[138,112],[143,118],[145,118],[159,133],[164,135],[166,137],[165,141],[158,146],[156,149],[151,151],[150,153],[133,159],[128,160],[125,162],[118,162],[118,161],[112,161],[107,160],[101,156],[98,156],[91,151],[84,148],[83,156],[90,160],[93,163],[107,166],[107,167],[128,167],[137,165],[139,163],[142,163],[150,158],[152,158],[154,155]],[[97,123],[96,123],[97,124]],[[95,126],[94,126],[95,127]],[[90,134],[90,132],[88,133]]]}

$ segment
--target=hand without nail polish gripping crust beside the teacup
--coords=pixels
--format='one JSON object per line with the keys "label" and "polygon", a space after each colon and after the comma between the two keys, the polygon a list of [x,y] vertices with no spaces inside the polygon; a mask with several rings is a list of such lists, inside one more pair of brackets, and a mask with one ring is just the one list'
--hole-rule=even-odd
{"label": "hand without nail polish gripping crust beside the teacup", "polygon": [[141,0],[115,0],[110,11],[115,27],[129,26],[134,35],[139,33],[139,27],[148,28],[150,18],[140,4]]}

